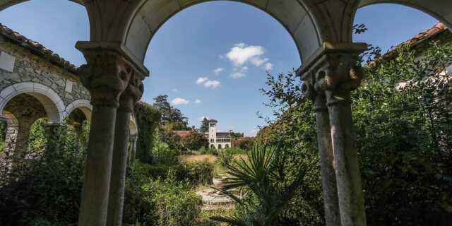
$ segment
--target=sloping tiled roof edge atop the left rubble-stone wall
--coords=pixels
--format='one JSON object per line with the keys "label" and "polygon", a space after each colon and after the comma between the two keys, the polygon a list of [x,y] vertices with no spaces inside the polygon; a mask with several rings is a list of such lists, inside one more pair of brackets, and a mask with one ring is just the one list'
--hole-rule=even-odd
{"label": "sloping tiled roof edge atop the left rubble-stone wall", "polygon": [[66,59],[62,57],[59,57],[58,54],[54,53],[50,49],[47,49],[39,42],[30,40],[28,37],[20,35],[20,33],[11,30],[11,28],[8,28],[1,23],[0,23],[0,35],[8,38],[13,42],[16,42],[17,44],[19,44],[22,47],[25,47],[26,49],[29,49],[34,54],[37,54],[37,56],[44,57],[44,59],[51,61],[53,64],[56,64],[62,69],[66,69],[68,71],[71,71],[72,73],[76,73],[77,68],[76,66],[71,64],[71,62],[66,61]]}

